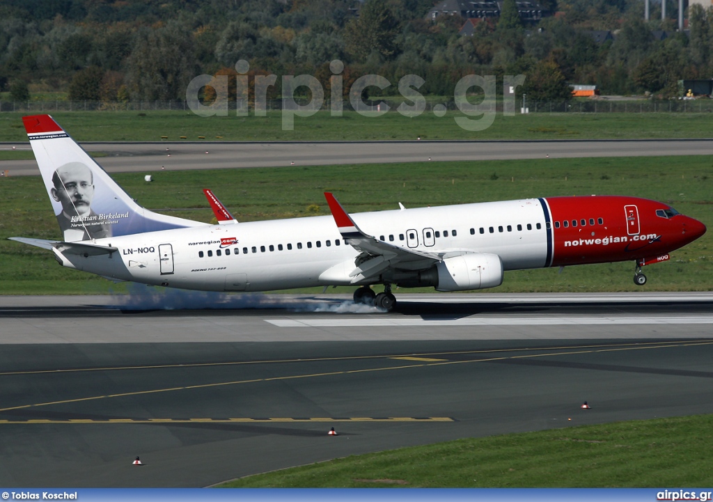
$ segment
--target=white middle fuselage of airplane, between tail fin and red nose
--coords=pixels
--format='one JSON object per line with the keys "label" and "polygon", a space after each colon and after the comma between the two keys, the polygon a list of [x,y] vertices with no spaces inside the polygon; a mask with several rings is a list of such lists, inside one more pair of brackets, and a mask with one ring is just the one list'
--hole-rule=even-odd
{"label": "white middle fuselage of airplane, between tail fin and red nose", "polygon": [[[548,237],[538,199],[365,212],[352,218],[366,234],[401,247],[492,253],[501,258],[504,270],[547,266]],[[117,247],[118,252],[64,255],[63,265],[118,280],[192,290],[354,284],[349,273],[359,255],[344,242],[332,216],[206,225],[96,243]]]}

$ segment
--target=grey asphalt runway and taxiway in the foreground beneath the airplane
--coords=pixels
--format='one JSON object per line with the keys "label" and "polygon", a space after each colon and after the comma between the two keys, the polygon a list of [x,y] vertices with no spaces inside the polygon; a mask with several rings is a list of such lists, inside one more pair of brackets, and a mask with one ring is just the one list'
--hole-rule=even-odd
{"label": "grey asphalt runway and taxiway in the foreground beneath the airplane", "polygon": [[[713,412],[713,294],[398,297],[391,314],[329,294],[0,297],[0,484],[207,486]],[[182,301],[223,308],[153,309]]]}

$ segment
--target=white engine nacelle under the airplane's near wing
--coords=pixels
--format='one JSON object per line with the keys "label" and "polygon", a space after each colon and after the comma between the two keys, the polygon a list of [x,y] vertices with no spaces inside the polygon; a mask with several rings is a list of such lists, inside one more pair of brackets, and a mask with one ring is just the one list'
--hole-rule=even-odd
{"label": "white engine nacelle under the airplane's near wing", "polygon": [[468,253],[436,265],[438,291],[481,290],[503,284],[503,262],[498,255]]}

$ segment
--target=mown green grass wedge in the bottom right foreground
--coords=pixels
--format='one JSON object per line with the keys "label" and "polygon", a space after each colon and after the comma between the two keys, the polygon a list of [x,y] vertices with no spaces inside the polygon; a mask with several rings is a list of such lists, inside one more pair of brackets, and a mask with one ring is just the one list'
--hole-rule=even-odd
{"label": "mown green grass wedge in the bottom right foreground", "polygon": [[249,476],[220,488],[704,487],[713,485],[712,429],[713,416],[699,415],[460,439]]}

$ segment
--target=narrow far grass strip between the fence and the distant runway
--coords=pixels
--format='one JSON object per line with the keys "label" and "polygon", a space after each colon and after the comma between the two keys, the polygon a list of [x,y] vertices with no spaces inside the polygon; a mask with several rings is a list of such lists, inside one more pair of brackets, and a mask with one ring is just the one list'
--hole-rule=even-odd
{"label": "narrow far grass strip between the fence and the distant runway", "polygon": [[[294,130],[282,130],[279,111],[266,117],[199,117],[183,111],[102,111],[49,112],[79,141],[198,140],[424,140],[443,139],[582,139],[593,138],[711,138],[710,113],[531,113],[505,117],[501,113],[486,130],[470,132],[456,124],[458,111],[443,118],[424,112],[407,118],[389,112],[379,117],[364,117],[344,112],[332,117],[320,111],[312,117],[295,117]],[[27,113],[1,113],[0,138],[24,141],[22,116]]]}

